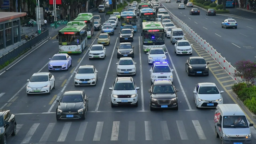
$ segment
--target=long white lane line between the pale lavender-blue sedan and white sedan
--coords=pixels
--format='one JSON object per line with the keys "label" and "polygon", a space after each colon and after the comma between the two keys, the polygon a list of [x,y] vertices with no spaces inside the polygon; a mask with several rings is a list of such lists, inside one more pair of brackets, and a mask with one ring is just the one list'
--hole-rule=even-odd
{"label": "long white lane line between the pale lavender-blue sedan and white sedan", "polygon": [[[90,45],[89,48],[91,48],[91,46],[93,45],[94,41],[96,40],[97,38],[95,38],[93,41],[92,41],[92,44]],[[86,50],[85,52],[85,55],[82,57],[82,59],[79,61],[79,63],[77,64],[77,66],[75,67],[74,71],[76,71],[78,69],[78,67],[80,66],[81,62],[84,60],[87,52],[89,50]],[[68,80],[66,81],[66,84],[64,84],[63,88],[61,89],[61,92],[57,95],[56,99],[59,99],[60,96],[62,95],[62,93],[64,92],[65,88],[67,87],[67,85],[69,84],[71,78],[73,77],[74,73],[72,72],[72,74],[70,75],[70,77],[68,78]],[[53,101],[53,103],[51,104],[51,107],[49,108],[48,112],[51,111],[51,109],[54,107],[54,105],[56,104],[56,100]]]}

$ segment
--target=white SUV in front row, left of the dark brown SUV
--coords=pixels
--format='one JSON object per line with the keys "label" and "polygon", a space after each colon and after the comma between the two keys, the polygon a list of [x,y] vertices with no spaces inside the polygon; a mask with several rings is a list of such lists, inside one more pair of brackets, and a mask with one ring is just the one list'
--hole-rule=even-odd
{"label": "white SUV in front row, left of the dark brown SUV", "polygon": [[138,107],[138,95],[136,87],[132,77],[117,77],[115,83],[109,88],[111,93],[111,107],[118,105],[134,105]]}

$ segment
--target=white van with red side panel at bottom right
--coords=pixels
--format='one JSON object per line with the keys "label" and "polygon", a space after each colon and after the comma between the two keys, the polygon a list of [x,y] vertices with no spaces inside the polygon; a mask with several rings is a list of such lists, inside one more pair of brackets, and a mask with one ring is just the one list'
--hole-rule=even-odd
{"label": "white van with red side panel at bottom right", "polygon": [[214,114],[215,135],[221,144],[252,144],[249,123],[237,104],[219,104]]}

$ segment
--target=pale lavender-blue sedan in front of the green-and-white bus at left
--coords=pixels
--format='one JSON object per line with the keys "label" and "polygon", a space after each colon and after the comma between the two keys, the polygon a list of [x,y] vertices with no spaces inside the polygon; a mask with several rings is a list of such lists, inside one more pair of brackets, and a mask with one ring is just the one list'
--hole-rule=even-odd
{"label": "pale lavender-blue sedan in front of the green-and-white bus at left", "polygon": [[55,54],[52,58],[49,58],[49,60],[49,71],[68,71],[68,68],[72,66],[72,58],[66,53]]}

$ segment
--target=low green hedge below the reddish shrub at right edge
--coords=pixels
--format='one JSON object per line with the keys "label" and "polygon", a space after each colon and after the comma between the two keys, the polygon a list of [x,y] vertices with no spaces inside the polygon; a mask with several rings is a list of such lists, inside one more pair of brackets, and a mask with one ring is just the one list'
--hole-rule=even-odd
{"label": "low green hedge below the reddish shrub at right edge", "polygon": [[234,84],[232,90],[244,105],[256,114],[256,86],[247,87],[245,83],[239,83]]}

